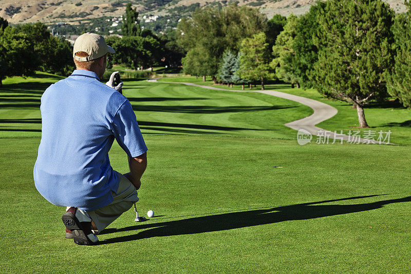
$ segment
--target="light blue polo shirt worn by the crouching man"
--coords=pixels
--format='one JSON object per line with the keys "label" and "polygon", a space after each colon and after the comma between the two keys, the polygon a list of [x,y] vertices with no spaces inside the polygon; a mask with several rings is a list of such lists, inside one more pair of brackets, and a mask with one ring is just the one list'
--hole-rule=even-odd
{"label": "light blue polo shirt worn by the crouching man", "polygon": [[42,138],[34,166],[37,190],[50,203],[93,211],[113,202],[119,176],[108,151],[117,140],[128,156],[147,151],[130,102],[76,69],[41,99]]}

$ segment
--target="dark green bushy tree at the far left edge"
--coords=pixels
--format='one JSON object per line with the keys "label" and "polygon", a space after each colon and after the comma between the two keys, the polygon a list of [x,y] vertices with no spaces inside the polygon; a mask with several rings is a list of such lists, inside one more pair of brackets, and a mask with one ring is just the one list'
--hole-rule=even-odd
{"label": "dark green bushy tree at the far left edge", "polygon": [[34,45],[23,32],[8,26],[0,35],[0,86],[6,76],[29,76],[38,67],[33,61]]}

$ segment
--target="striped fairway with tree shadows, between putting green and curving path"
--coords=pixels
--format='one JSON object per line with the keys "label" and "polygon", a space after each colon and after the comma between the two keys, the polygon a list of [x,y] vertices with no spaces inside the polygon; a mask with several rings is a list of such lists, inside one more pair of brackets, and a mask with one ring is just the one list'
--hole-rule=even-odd
{"label": "striped fairway with tree shadows, between putting green and curving path", "polygon": [[[49,78],[46,78],[49,79]],[[40,136],[40,97],[52,83],[5,84],[0,137]],[[219,92],[182,84],[124,79],[143,133],[213,134],[294,139],[285,123],[312,113],[298,103],[255,93]]]}

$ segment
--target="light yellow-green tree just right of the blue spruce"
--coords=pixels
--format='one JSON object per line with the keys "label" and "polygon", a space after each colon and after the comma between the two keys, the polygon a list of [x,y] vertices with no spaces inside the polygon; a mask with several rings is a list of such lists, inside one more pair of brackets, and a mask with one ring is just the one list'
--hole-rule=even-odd
{"label": "light yellow-green tree just right of the blue spruce", "polygon": [[237,75],[247,80],[261,80],[261,89],[264,89],[264,80],[271,76],[266,43],[266,34],[259,32],[253,38],[246,38],[241,42],[240,69]]}

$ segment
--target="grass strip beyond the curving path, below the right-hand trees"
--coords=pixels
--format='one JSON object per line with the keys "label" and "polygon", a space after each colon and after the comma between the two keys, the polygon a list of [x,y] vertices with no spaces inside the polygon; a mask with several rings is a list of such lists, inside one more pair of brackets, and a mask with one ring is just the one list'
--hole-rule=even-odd
{"label": "grass strip beyond the curving path, below the right-hand trees", "polygon": [[[169,77],[162,78],[159,81],[170,82],[191,82],[199,85],[212,85],[219,88],[240,90],[241,86],[236,85],[233,88],[227,87],[227,85],[214,85],[213,82],[207,78],[207,82],[202,82],[202,78],[198,77]],[[260,86],[257,85],[253,90],[259,90]],[[288,84],[269,84],[266,85],[266,89],[277,90],[279,92],[294,94],[302,97],[315,99],[326,104],[332,105],[338,109],[338,114],[328,119],[317,126],[340,133],[348,134],[349,131],[360,131],[364,136],[364,131],[373,131],[378,137],[378,132],[391,131],[390,141],[399,144],[411,144],[411,110],[404,108],[402,105],[394,102],[385,103],[371,103],[364,109],[365,118],[370,126],[369,129],[359,129],[359,122],[357,116],[357,109],[352,109],[352,105],[347,102],[328,99],[316,92],[314,89],[304,90],[301,88],[291,88]],[[249,90],[249,88],[246,88]],[[252,90],[251,90],[252,91]],[[385,135],[385,134],[384,134]],[[377,139],[375,137],[375,139]]]}

